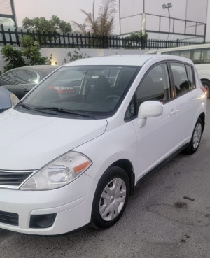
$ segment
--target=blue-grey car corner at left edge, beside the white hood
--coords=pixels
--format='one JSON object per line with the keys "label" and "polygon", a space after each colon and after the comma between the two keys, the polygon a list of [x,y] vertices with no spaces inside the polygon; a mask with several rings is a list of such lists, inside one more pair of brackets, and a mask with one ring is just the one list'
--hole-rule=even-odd
{"label": "blue-grey car corner at left edge, beside the white hood", "polygon": [[9,92],[7,89],[0,87],[0,113],[15,106],[19,99],[15,94]]}

